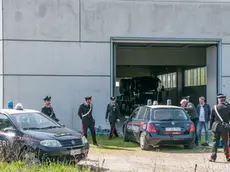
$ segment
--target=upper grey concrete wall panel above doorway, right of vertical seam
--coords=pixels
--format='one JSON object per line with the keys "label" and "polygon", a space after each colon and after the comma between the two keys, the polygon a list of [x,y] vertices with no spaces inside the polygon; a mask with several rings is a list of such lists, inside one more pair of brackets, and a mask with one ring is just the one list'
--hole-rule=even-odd
{"label": "upper grey concrete wall panel above doorway, right of vertical seam", "polygon": [[226,22],[229,9],[228,3],[210,1],[84,0],[82,40],[109,41],[111,36],[220,37],[226,43],[230,41],[230,24]]}

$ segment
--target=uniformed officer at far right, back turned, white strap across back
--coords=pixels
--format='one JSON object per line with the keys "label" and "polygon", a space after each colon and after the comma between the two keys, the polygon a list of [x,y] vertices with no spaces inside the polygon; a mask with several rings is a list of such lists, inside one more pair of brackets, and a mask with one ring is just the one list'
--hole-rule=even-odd
{"label": "uniformed officer at far right, back turned, white strap across back", "polygon": [[222,137],[224,154],[226,156],[226,160],[229,162],[228,158],[228,132],[229,132],[229,121],[230,121],[230,105],[226,102],[226,96],[223,94],[219,94],[217,96],[218,104],[216,105],[216,110],[219,114],[217,115],[215,111],[215,106],[212,109],[211,113],[211,121],[210,128],[214,134],[214,143],[212,147],[212,155],[210,158],[211,162],[214,162],[217,158],[217,148],[220,142],[220,137]]}

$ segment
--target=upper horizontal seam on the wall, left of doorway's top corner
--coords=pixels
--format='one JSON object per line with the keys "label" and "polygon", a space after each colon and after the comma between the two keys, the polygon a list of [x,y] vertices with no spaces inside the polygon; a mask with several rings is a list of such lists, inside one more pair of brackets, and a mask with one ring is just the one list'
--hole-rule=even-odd
{"label": "upper horizontal seam on the wall, left of doorway's top corner", "polygon": [[2,39],[11,42],[57,42],[57,43],[110,43],[110,41],[68,41],[68,40],[36,40],[36,39]]}

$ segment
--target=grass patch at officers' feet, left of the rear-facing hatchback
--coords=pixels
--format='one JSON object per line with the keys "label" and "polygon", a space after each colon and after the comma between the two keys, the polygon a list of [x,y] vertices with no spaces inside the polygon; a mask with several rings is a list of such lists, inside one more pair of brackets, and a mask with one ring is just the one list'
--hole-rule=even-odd
{"label": "grass patch at officers' feet, left of the rear-facing hatchback", "polygon": [[[139,147],[137,143],[133,142],[124,142],[123,137],[113,137],[112,140],[108,139],[106,135],[97,135],[97,142],[103,147],[113,147],[113,148],[136,148]],[[92,143],[91,135],[88,136],[89,143]]]}

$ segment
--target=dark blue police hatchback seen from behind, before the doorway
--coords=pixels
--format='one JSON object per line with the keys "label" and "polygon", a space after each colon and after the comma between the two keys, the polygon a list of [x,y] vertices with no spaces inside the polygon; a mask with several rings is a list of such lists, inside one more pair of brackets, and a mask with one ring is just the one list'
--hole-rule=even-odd
{"label": "dark blue police hatchback seen from behind, before the doorway", "polygon": [[181,107],[140,106],[125,121],[123,134],[125,142],[140,143],[143,150],[157,145],[184,145],[185,148],[193,148],[195,127]]}

